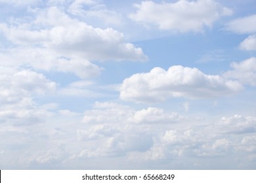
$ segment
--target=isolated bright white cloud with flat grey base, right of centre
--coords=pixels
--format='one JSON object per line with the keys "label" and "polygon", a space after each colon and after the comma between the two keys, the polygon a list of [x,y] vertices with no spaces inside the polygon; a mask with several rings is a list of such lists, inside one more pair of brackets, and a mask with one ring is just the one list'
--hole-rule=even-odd
{"label": "isolated bright white cloud with flat grey base, right of centre", "polygon": [[155,67],[123,80],[120,98],[136,102],[164,101],[169,97],[190,99],[217,97],[241,90],[239,82],[218,75],[205,75],[196,68],[175,65],[167,71]]}

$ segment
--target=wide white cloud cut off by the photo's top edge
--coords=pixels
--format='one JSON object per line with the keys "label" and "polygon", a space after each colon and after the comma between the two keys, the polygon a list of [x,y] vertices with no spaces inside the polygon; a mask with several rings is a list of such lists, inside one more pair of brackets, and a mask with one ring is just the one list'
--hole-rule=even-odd
{"label": "wide white cloud cut off by the photo's top edge", "polygon": [[140,5],[135,4],[135,8],[137,12],[129,16],[132,20],[179,32],[203,31],[221,16],[232,14],[232,10],[212,0],[180,0],[176,3],[142,1]]}

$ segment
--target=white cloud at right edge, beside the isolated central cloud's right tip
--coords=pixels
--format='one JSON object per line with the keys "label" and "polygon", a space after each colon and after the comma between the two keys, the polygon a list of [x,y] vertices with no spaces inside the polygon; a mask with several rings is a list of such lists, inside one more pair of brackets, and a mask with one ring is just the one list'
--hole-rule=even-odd
{"label": "white cloud at right edge, beside the isolated central cloud's right tip", "polygon": [[224,73],[225,78],[236,79],[243,84],[256,86],[256,58],[245,59],[240,63],[234,62],[231,67],[233,70]]}

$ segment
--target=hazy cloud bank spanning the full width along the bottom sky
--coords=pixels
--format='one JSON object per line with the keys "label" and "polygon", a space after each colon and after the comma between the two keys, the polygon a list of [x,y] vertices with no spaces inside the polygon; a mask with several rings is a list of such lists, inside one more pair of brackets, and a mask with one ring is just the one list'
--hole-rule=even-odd
{"label": "hazy cloud bank spanning the full width along the bottom sky", "polygon": [[[15,133],[20,143],[30,144],[12,150],[15,163],[8,161],[9,165],[26,169],[71,165],[77,169],[77,166],[94,166],[95,161],[88,162],[91,158],[116,159],[118,156],[117,159],[124,160],[122,162],[127,167],[134,167],[136,161],[145,169],[148,162],[157,164],[165,159],[168,167],[213,169],[214,165],[224,166],[221,160],[217,162],[216,157],[221,157],[231,163],[226,165],[230,169],[230,165],[234,168],[239,164],[234,159],[243,156],[248,159],[243,161],[245,167],[253,166],[249,159],[255,152],[255,131],[241,130],[238,133],[236,130],[254,127],[255,116],[228,116],[205,125],[212,119],[193,122],[191,118],[173,117],[163,108],[135,109],[112,102],[96,102],[93,110],[84,112],[82,123],[77,118],[82,117],[81,114],[67,110],[60,113],[65,114],[65,119],[59,118],[53,123],[54,116],[51,116],[44,125],[36,127],[2,125],[1,138]],[[8,143],[15,145],[16,141],[11,138]],[[45,145],[38,146],[38,143]],[[7,142],[1,142],[1,147],[1,158],[6,157],[10,152]],[[182,165],[179,164],[181,159]],[[89,164],[84,165],[85,161]],[[3,165],[8,163],[6,160],[2,162]],[[74,162],[79,163],[74,165]],[[98,161],[95,169],[102,166],[109,167],[106,161]]]}

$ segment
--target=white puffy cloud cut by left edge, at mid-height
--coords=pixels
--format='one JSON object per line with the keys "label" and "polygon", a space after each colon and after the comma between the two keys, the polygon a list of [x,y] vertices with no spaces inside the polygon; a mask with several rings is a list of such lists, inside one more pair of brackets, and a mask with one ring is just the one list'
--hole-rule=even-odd
{"label": "white puffy cloud cut by left edge, at mid-height", "polygon": [[51,112],[37,108],[33,98],[55,92],[54,82],[34,71],[8,67],[1,67],[0,71],[0,122],[28,125],[51,116]]}

